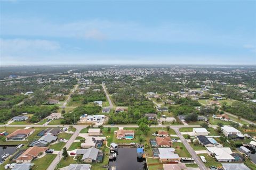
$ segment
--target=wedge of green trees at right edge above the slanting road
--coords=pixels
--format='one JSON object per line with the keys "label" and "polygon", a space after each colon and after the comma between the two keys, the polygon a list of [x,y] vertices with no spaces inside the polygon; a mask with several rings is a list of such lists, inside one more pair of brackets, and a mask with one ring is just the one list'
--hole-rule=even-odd
{"label": "wedge of green trees at right edge above the slanting road", "polygon": [[247,118],[249,120],[256,120],[256,104],[252,102],[243,103],[241,101],[235,101],[230,105],[223,102],[221,105],[223,111],[233,113],[237,116]]}

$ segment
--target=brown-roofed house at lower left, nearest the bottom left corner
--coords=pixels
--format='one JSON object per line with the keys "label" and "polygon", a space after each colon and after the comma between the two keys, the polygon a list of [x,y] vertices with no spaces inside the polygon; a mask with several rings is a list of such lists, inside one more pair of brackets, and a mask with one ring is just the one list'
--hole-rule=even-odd
{"label": "brown-roofed house at lower left, nearest the bottom left corner", "polygon": [[33,159],[37,158],[41,152],[45,152],[47,149],[47,147],[37,146],[28,148],[16,159],[16,163],[30,163]]}

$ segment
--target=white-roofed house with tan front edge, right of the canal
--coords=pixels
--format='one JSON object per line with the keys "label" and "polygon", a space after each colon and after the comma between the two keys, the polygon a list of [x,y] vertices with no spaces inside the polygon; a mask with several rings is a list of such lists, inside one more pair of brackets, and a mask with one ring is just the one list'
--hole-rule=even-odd
{"label": "white-roofed house with tan front edge, right of the canal", "polygon": [[159,154],[159,160],[160,162],[171,162],[171,163],[178,163],[180,160],[180,157],[178,154],[174,154],[175,149],[174,148],[158,148]]}

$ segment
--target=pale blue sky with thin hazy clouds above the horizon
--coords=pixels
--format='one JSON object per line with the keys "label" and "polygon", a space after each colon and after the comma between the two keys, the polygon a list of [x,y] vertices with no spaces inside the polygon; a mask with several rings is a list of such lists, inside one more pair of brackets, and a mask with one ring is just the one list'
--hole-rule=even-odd
{"label": "pale blue sky with thin hazy clouds above the horizon", "polygon": [[1,1],[0,65],[256,64],[256,1]]}

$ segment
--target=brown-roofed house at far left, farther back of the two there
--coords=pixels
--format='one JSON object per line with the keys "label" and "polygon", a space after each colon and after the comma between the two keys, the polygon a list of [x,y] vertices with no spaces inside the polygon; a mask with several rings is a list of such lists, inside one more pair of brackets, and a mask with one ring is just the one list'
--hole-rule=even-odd
{"label": "brown-roofed house at far left, farther back of the two there", "polygon": [[17,129],[7,135],[6,140],[25,140],[29,135],[35,132],[35,129]]}

